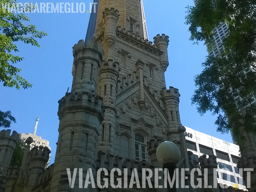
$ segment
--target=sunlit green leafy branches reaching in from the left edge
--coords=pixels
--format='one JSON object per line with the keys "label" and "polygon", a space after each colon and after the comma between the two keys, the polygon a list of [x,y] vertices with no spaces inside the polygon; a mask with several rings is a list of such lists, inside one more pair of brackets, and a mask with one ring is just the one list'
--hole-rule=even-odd
{"label": "sunlit green leafy branches reaching in from the left edge", "polygon": [[[9,9],[13,7],[13,9]],[[25,44],[40,47],[36,38],[42,38],[47,34],[44,31],[36,30],[35,25],[25,25],[30,19],[24,14],[33,11],[36,7],[33,4],[21,6],[16,0],[0,0],[0,82],[3,86],[20,87],[26,89],[32,86],[18,73],[21,71],[15,66],[24,58],[13,53],[18,52],[15,42],[21,41]],[[8,128],[11,122],[16,122],[11,112],[0,111],[0,127]]]}

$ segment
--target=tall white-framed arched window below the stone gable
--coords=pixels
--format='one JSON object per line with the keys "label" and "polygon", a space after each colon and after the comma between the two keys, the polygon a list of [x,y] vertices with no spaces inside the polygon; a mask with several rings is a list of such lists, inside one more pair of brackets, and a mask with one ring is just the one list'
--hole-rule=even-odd
{"label": "tall white-framed arched window below the stone gable", "polygon": [[135,160],[147,162],[146,136],[141,132],[135,132]]}

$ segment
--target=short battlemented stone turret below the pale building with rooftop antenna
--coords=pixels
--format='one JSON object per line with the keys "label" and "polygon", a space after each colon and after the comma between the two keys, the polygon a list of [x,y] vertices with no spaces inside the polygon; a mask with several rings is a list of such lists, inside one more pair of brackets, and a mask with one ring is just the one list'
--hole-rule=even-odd
{"label": "short battlemented stone turret below the pale building with rooftop antenna", "polygon": [[27,192],[32,191],[32,189],[38,185],[40,173],[45,169],[50,153],[49,148],[42,145],[35,146],[30,150],[28,163],[28,170],[30,170],[30,172]]}

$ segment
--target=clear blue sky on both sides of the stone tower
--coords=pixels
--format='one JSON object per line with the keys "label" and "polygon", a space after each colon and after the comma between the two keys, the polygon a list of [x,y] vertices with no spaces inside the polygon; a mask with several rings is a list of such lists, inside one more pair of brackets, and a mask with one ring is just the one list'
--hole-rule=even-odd
{"label": "clear blue sky on both sides of the stone tower", "polygon": [[[44,1],[35,2],[39,4]],[[89,3],[92,0],[83,2],[89,10]],[[207,51],[203,43],[193,45],[193,42],[189,41],[189,26],[184,24],[187,5],[193,5],[193,1],[144,0],[149,40],[153,42],[153,37],[161,33],[170,37],[168,47],[170,65],[165,73],[166,86],[179,89],[181,123],[232,143],[230,133],[222,135],[216,132],[215,116],[207,113],[201,117],[197,113],[196,106],[191,106],[190,98],[195,90],[193,79],[202,71],[201,63],[205,61]],[[40,48],[17,43],[20,50],[18,55],[25,58],[17,64],[17,67],[22,69],[20,75],[33,86],[27,90],[0,86],[0,110],[11,110],[17,123],[13,123],[10,129],[18,133],[33,133],[35,119],[39,116],[37,135],[49,141],[53,158],[58,139],[58,100],[65,95],[68,87],[71,88],[72,47],[80,39],[85,38],[90,15],[89,13],[27,15],[31,18],[31,24],[35,24],[38,30],[44,30],[49,35],[38,40]]]}

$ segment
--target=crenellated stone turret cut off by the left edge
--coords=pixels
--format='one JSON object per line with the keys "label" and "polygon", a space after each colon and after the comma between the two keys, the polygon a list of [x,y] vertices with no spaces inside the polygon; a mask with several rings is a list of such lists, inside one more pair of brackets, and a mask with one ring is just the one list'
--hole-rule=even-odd
{"label": "crenellated stone turret cut off by the left edge", "polygon": [[0,132],[0,176],[5,176],[10,165],[13,150],[19,140],[19,134],[11,129],[2,130]]}

